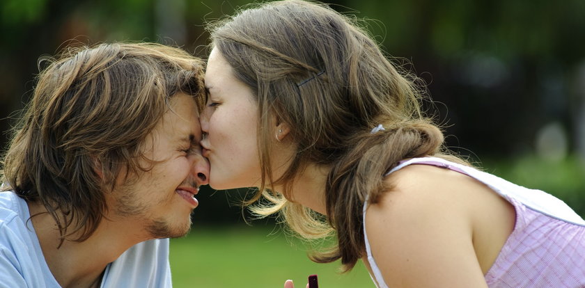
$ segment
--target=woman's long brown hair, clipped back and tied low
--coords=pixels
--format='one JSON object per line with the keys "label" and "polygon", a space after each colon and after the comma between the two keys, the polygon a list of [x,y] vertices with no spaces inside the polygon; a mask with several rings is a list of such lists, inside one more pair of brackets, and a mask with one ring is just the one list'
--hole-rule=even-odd
{"label": "woman's long brown hair, clipped back and tied low", "polygon": [[[287,0],[261,3],[210,25],[237,79],[256,95],[260,118],[260,191],[269,204],[260,215],[281,212],[293,231],[307,239],[335,230],[338,245],[312,256],[315,262],[341,258],[345,271],[365,253],[362,209],[391,187],[383,177],[398,161],[442,154],[442,131],[421,111],[424,87],[398,69],[354,20],[320,3]],[[272,119],[286,122],[296,157],[273,179],[270,169]],[[385,130],[371,133],[382,124]],[[292,183],[308,163],[330,167],[325,187],[327,222],[290,202]],[[282,184],[283,195],[265,189]],[[285,196],[285,197],[283,197]],[[253,200],[258,200],[256,195]]]}

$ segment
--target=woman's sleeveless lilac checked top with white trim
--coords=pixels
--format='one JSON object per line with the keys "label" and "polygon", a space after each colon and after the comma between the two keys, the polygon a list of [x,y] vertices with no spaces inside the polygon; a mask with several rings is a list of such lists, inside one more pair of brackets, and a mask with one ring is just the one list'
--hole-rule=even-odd
{"label": "woman's sleeveless lilac checked top with white trim", "polygon": [[[526,189],[475,168],[435,157],[409,159],[390,173],[412,164],[440,166],[477,179],[508,200],[516,224],[496,261],[485,274],[488,287],[585,287],[585,221],[570,207],[543,191]],[[372,278],[387,288],[364,237]]]}

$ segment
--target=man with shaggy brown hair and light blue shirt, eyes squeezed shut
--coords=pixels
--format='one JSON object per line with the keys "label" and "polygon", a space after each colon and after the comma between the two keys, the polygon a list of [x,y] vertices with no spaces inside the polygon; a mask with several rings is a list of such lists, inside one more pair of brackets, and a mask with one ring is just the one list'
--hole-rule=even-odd
{"label": "man with shaggy brown hair and light blue shirt, eyes squeezed shut", "polygon": [[203,72],[156,44],[70,48],[3,157],[0,287],[170,287],[169,237],[208,183]]}

